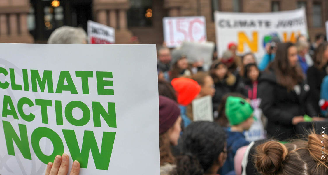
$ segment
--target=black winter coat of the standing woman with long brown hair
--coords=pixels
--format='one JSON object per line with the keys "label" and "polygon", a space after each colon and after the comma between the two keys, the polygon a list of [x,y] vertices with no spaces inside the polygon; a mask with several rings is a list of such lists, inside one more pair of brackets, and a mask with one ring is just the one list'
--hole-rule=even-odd
{"label": "black winter coat of the standing woman with long brown hair", "polygon": [[309,100],[309,85],[306,81],[299,84],[299,95],[292,90],[277,84],[273,71],[263,72],[259,79],[258,97],[262,99],[260,108],[268,118],[267,133],[269,137],[278,140],[292,138],[295,135],[292,119],[295,116],[315,116],[311,101]]}

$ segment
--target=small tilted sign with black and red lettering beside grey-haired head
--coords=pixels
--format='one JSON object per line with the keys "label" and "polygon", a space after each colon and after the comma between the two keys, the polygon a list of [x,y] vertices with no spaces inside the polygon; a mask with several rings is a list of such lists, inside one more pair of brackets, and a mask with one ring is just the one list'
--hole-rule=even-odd
{"label": "small tilted sign with black and red lettering beside grey-haired head", "polygon": [[115,44],[115,29],[94,21],[88,21],[89,44]]}

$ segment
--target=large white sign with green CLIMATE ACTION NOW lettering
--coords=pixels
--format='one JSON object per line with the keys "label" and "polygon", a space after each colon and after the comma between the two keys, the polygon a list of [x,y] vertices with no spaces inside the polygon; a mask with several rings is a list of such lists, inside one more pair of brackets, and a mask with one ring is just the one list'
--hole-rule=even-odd
{"label": "large white sign with green CLIMATE ACTION NOW lettering", "polygon": [[159,175],[156,64],[155,45],[1,43],[0,174],[66,153],[80,175]]}

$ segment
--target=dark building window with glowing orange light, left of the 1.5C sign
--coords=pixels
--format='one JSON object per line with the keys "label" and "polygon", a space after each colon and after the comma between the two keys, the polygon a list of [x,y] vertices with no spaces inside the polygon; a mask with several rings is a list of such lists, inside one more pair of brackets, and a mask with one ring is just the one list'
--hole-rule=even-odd
{"label": "dark building window with glowing orange light, left of the 1.5C sign", "polygon": [[128,11],[128,27],[152,26],[152,1],[130,0],[131,8]]}

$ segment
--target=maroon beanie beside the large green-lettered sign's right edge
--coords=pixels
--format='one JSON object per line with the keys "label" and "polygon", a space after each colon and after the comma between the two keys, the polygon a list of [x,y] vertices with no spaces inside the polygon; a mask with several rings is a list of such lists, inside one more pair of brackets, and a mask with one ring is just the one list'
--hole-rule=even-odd
{"label": "maroon beanie beside the large green-lettered sign's right edge", "polygon": [[159,134],[169,130],[180,116],[178,104],[167,97],[158,96],[159,98]]}

